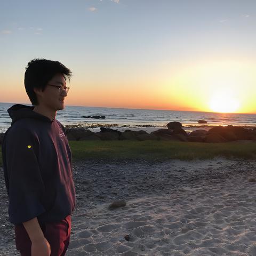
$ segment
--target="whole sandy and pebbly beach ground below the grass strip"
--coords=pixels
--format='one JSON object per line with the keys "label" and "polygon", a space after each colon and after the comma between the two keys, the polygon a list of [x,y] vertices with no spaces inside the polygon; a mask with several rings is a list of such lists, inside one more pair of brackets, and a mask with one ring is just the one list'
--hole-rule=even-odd
{"label": "whole sandy and pebbly beach ground below the grass strip", "polygon": [[[88,161],[73,167],[77,207],[68,256],[256,255],[255,161]],[[0,255],[19,255],[0,171]],[[117,200],[126,206],[109,210]]]}

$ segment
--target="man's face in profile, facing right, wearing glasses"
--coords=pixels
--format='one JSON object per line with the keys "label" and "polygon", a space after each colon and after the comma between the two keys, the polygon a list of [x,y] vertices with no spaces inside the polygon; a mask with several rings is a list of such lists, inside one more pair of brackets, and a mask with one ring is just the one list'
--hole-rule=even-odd
{"label": "man's face in profile, facing right, wearing glasses", "polygon": [[61,91],[59,88],[61,86],[65,87],[66,81],[62,74],[57,74],[47,83],[43,92],[37,91],[39,106],[43,105],[54,111],[64,109],[64,99],[67,97],[67,92]]}

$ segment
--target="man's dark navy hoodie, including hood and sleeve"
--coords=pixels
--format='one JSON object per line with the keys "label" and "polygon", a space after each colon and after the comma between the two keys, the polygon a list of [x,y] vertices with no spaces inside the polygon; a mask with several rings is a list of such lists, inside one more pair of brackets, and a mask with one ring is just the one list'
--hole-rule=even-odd
{"label": "man's dark navy hoodie, including hood and sleeve", "polygon": [[13,224],[59,221],[75,207],[71,151],[63,125],[34,107],[13,105],[2,142],[4,177]]}

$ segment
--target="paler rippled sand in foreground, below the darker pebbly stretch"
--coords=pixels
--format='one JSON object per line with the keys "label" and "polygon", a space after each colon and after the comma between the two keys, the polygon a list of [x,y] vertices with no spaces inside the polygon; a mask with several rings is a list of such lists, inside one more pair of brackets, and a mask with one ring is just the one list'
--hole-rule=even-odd
{"label": "paler rippled sand in foreground, below the darker pebbly stretch", "polygon": [[256,255],[255,189],[235,177],[141,197],[111,212],[99,205],[73,218],[67,255]]}

